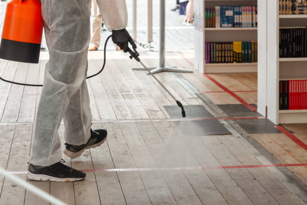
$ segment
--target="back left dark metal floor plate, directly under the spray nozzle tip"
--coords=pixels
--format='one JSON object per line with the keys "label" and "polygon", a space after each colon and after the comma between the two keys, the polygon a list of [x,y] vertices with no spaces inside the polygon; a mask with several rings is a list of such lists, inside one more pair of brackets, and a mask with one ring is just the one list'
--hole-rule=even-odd
{"label": "back left dark metal floor plate, directly under the spray nozzle tip", "polygon": [[[171,118],[182,118],[181,108],[178,106],[164,106]],[[184,106],[187,118],[213,118],[204,106]]]}

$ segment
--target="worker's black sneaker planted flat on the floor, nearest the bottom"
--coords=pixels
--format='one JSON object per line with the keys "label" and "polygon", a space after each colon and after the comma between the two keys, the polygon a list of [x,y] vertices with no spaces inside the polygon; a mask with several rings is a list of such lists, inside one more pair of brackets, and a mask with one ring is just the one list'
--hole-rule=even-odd
{"label": "worker's black sneaker planted flat on the floor, nearest the bottom", "polygon": [[86,174],[82,171],[73,169],[61,162],[57,162],[50,166],[29,165],[27,177],[35,181],[80,181],[84,179]]}

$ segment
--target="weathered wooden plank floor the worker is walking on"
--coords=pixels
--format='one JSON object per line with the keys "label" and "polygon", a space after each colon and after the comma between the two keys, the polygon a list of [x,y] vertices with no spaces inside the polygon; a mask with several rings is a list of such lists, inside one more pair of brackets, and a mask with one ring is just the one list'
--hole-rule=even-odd
{"label": "weathered wooden plank floor the worker is walking on", "polygon": [[[158,64],[156,53],[143,52],[140,56],[148,67]],[[191,53],[167,53],[167,62],[192,69],[193,57]],[[0,60],[0,74],[18,82],[42,83],[45,64],[46,60],[40,64]],[[89,74],[101,65],[101,60],[90,59]],[[174,122],[167,120],[170,116],[164,109],[176,102],[145,71],[131,70],[139,66],[121,52],[108,52],[103,73],[87,81],[92,128],[107,129],[108,139],[76,159],[63,154],[67,165],[86,170],[86,179],[30,183],[67,204],[304,204],[294,194],[293,186],[287,185],[290,182],[277,175],[277,168],[245,167],[262,165],[263,156],[243,137],[182,134]],[[240,104],[197,71],[181,75],[197,90],[186,89],[174,73],[157,77],[183,105],[202,105],[195,95],[200,92],[214,104]],[[248,104],[257,104],[256,73],[210,76]],[[0,166],[10,172],[27,170],[40,92],[41,88],[0,81]],[[307,143],[306,124],[286,128]],[[63,149],[63,124],[59,134]],[[307,151],[284,134],[252,137],[281,163],[307,163]],[[288,169],[307,183],[307,166]],[[27,180],[26,174],[18,176]],[[49,204],[3,176],[0,182],[0,204]]]}

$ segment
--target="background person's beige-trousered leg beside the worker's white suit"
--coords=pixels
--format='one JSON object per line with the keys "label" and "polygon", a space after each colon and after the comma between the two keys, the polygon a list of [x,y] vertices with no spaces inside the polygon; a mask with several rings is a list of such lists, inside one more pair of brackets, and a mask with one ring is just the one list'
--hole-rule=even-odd
{"label": "background person's beige-trousered leg beside the worker's white suit", "polygon": [[96,0],[92,0],[91,9],[91,41],[89,51],[96,51],[100,44],[100,32],[101,32],[102,15],[97,5]]}

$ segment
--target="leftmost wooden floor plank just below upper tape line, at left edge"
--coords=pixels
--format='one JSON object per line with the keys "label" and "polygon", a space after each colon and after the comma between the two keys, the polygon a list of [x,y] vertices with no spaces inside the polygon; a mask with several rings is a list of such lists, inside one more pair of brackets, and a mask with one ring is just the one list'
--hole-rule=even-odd
{"label": "leftmost wooden floor plank just below upper tape line, at left edge", "polygon": [[[2,125],[0,127],[0,166],[7,169],[10,150],[15,132],[15,125]],[[0,175],[0,196],[2,192],[4,176]]]}

